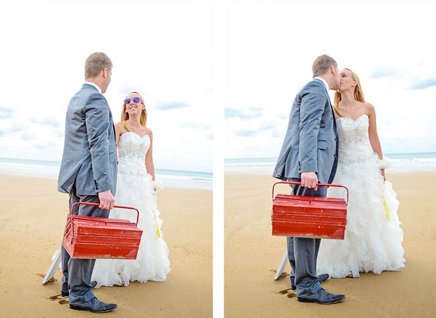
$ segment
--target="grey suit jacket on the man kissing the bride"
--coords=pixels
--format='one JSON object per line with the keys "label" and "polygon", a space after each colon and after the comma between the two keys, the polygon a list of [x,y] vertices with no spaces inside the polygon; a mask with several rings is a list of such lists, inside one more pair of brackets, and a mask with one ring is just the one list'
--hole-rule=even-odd
{"label": "grey suit jacket on the man kissing the bride", "polygon": [[313,79],[296,95],[288,130],[273,177],[301,178],[316,172],[321,183],[331,183],[338,164],[338,131],[326,87]]}

